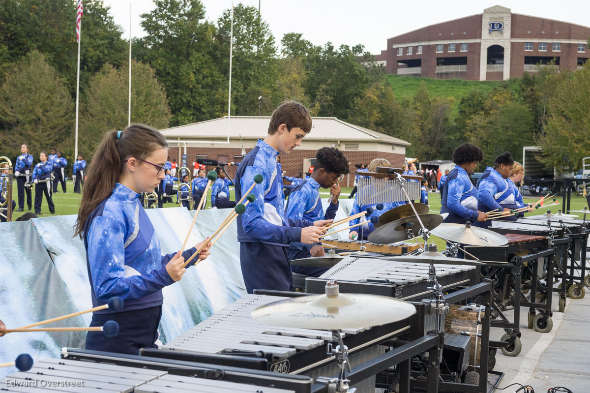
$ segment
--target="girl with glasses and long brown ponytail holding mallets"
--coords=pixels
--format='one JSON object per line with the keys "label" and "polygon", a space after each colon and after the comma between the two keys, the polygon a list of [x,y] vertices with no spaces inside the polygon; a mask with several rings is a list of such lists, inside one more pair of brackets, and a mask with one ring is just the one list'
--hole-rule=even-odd
{"label": "girl with glasses and long brown ponytail holding mallets", "polygon": [[[166,139],[145,125],[107,133],[90,164],[75,235],[86,248],[93,306],[113,296],[124,300],[119,312],[94,312],[90,326],[107,320],[119,323],[119,335],[107,338],[89,332],[86,349],[137,355],[140,348],[157,348],[162,316],[162,288],[182,278],[185,258],[199,245],[162,256],[160,242],[145,209],[141,192],[152,192],[164,178]],[[209,255],[209,245],[201,258]]]}

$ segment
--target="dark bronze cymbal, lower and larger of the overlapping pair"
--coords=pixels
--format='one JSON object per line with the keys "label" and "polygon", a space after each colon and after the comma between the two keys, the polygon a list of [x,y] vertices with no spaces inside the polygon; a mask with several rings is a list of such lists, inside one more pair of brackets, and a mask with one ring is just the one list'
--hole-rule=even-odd
{"label": "dark bronze cymbal, lower and larger of the overlapping pair", "polygon": [[[422,220],[425,228],[431,230],[441,224],[442,216],[438,214],[421,214],[420,220]],[[376,244],[389,244],[394,241],[407,240],[407,228],[411,228],[414,236],[418,236],[418,232],[422,227],[415,215],[399,218],[383,225],[381,228],[377,228],[369,234],[368,240]]]}

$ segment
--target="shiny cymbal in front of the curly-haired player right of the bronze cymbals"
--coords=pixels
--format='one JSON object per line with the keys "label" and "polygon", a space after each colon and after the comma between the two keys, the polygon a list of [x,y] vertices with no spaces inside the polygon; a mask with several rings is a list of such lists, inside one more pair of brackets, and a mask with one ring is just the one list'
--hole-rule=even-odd
{"label": "shiny cymbal in front of the curly-haired player right of the bronze cymbals", "polygon": [[444,240],[461,244],[488,246],[508,244],[508,239],[503,235],[484,228],[473,227],[470,222],[467,224],[443,222],[430,232]]}

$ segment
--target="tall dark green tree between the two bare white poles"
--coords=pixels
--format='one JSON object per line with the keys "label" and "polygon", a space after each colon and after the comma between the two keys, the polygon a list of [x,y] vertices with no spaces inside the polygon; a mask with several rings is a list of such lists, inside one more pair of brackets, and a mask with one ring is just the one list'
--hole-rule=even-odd
{"label": "tall dark green tree between the two bare white poles", "polygon": [[142,15],[146,36],[137,40],[135,53],[155,69],[165,87],[171,125],[222,116],[227,110],[227,78],[215,63],[216,28],[205,21],[201,1],[155,0],[155,5]]}

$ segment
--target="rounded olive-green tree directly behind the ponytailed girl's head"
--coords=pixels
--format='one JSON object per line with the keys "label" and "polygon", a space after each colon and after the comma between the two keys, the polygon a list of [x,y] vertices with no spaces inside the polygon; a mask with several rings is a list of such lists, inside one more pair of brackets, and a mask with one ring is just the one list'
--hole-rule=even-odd
{"label": "rounded olive-green tree directly behind the ponytailed girl's head", "polygon": [[[105,64],[89,80],[80,112],[80,146],[87,159],[105,132],[122,130],[128,123],[129,68]],[[148,64],[132,63],[131,122],[166,128],[171,118],[166,91]]]}

